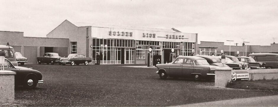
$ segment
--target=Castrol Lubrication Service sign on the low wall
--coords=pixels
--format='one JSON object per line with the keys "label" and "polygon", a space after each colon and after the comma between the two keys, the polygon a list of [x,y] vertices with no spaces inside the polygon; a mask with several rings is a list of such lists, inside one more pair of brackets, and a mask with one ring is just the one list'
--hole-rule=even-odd
{"label": "Castrol Lubrication Service sign on the low wall", "polygon": [[233,71],[232,81],[249,80],[249,73],[247,71]]}

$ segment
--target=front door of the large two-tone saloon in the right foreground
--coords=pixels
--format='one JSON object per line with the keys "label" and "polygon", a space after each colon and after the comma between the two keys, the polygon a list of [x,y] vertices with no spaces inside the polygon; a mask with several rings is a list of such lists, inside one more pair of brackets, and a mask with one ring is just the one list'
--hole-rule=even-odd
{"label": "front door of the large two-tone saloon in the right foreground", "polygon": [[169,76],[179,77],[182,75],[183,58],[177,58],[169,68]]}

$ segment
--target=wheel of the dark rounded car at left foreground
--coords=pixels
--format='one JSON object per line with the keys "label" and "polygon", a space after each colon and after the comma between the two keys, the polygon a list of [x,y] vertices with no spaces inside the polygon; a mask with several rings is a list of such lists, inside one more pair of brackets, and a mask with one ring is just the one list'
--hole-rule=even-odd
{"label": "wheel of the dark rounded car at left foreground", "polygon": [[24,80],[24,88],[27,89],[33,89],[37,86],[38,80],[35,76],[28,76],[25,80]]}

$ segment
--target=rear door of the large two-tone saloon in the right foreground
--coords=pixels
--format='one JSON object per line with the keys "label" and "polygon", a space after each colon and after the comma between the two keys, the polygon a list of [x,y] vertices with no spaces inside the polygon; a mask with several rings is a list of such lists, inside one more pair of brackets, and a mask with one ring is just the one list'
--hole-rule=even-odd
{"label": "rear door of the large two-tone saloon in the right foreground", "polygon": [[191,73],[193,73],[194,63],[192,60],[185,58],[182,66],[182,76],[190,77]]}

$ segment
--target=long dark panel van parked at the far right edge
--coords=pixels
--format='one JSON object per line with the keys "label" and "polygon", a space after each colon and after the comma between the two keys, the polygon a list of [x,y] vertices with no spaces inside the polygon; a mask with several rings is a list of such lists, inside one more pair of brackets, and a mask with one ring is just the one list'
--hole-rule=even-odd
{"label": "long dark panel van parked at the far right edge", "polygon": [[255,54],[249,54],[248,56],[253,58],[256,62],[266,63],[265,67],[267,69],[276,69],[276,68],[278,68],[278,54],[255,53]]}

